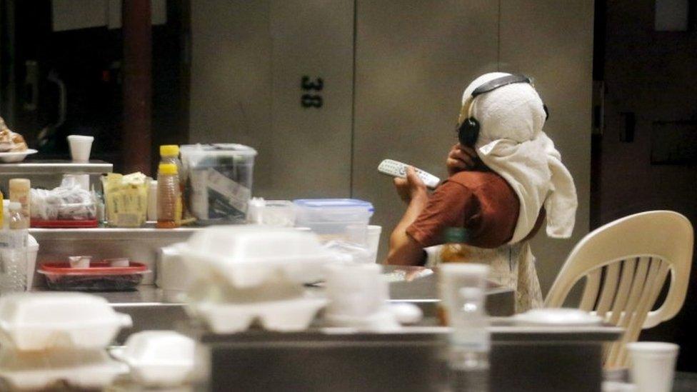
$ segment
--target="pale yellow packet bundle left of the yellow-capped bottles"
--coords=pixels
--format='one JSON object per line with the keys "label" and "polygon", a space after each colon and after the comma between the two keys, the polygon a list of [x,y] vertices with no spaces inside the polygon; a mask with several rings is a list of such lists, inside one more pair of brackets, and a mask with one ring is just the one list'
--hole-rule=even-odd
{"label": "pale yellow packet bundle left of the yellow-capped bottles", "polygon": [[151,179],[142,173],[126,176],[110,173],[102,177],[106,219],[109,226],[143,226],[148,213],[150,181]]}

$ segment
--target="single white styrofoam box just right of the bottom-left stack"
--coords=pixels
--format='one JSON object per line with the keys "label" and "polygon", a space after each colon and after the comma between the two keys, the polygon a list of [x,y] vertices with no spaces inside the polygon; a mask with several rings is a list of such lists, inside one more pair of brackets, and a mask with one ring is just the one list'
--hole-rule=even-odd
{"label": "single white styrofoam box just right of the bottom-left stack", "polygon": [[174,331],[142,331],[126,340],[119,359],[131,368],[141,386],[173,387],[189,380],[196,343]]}

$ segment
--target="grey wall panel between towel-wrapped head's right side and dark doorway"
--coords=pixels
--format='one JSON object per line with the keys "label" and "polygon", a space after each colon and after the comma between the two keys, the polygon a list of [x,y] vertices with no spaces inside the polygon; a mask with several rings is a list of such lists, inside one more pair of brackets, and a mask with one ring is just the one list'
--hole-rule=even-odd
{"label": "grey wall panel between towel-wrapped head's right side and dark doorway", "polygon": [[543,291],[571,248],[588,233],[591,187],[593,1],[501,1],[502,70],[533,76],[550,116],[545,131],[571,171],[578,193],[571,239],[543,233],[532,243]]}

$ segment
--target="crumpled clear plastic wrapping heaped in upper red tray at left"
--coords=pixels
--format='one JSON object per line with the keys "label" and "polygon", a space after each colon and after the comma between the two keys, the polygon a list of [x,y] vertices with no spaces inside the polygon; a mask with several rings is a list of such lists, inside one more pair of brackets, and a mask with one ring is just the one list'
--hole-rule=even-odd
{"label": "crumpled clear plastic wrapping heaped in upper red tray at left", "polygon": [[96,219],[94,194],[64,179],[57,188],[31,189],[31,218],[40,221],[93,221]]}

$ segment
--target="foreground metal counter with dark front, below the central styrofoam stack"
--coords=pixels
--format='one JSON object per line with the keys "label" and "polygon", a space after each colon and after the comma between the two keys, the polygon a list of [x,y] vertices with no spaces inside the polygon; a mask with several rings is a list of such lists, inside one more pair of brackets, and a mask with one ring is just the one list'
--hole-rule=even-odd
{"label": "foreground metal counter with dark front, below the central styrofoam stack", "polygon": [[[449,328],[352,333],[252,331],[201,341],[209,391],[443,391]],[[513,326],[493,319],[490,391],[600,391],[602,343],[614,327]]]}

